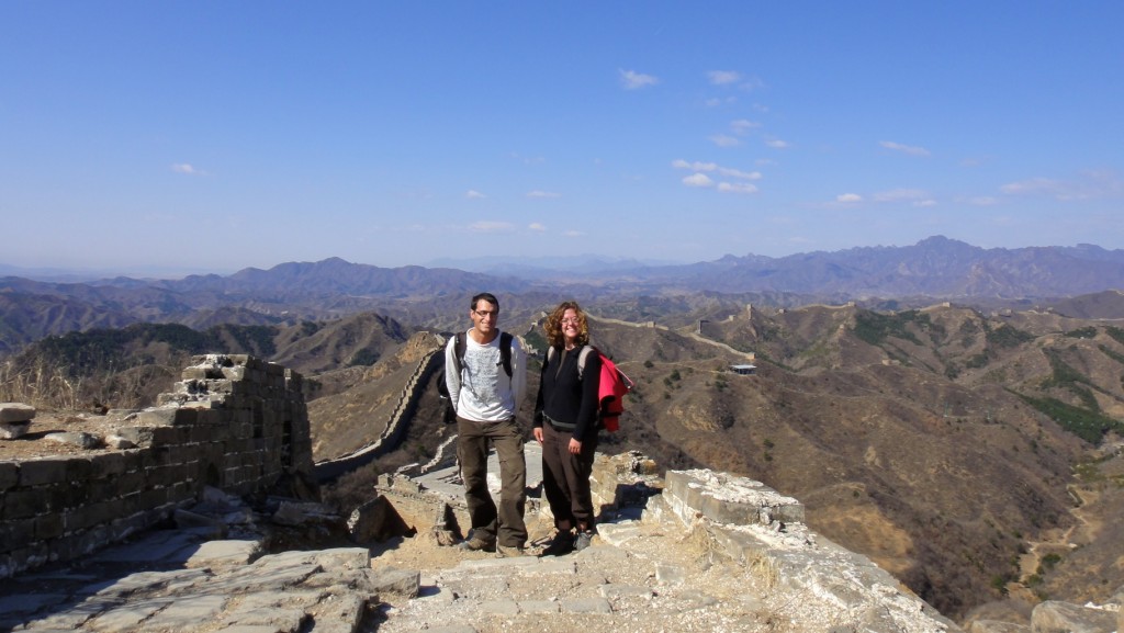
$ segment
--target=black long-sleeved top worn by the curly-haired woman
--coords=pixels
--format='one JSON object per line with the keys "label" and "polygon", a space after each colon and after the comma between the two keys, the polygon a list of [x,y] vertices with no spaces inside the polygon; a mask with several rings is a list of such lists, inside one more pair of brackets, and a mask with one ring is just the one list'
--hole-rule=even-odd
{"label": "black long-sleeved top worn by the curly-haired woman", "polygon": [[565,351],[554,347],[546,355],[535,400],[535,426],[553,422],[558,431],[573,433],[584,442],[597,436],[597,391],[601,378],[601,356],[596,351],[586,354],[586,367],[578,378],[578,356],[582,347]]}

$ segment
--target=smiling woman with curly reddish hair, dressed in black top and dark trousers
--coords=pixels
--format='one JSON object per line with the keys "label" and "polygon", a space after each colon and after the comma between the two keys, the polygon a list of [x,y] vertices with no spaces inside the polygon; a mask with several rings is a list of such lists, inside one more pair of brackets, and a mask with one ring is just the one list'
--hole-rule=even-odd
{"label": "smiling woman with curly reddish hair, dressed in black top and dark trousers", "polygon": [[545,329],[550,350],[535,401],[534,433],[543,446],[543,491],[558,533],[543,555],[562,555],[588,548],[593,537],[589,476],[597,450],[601,359],[586,353],[579,372],[579,356],[589,345],[589,324],[578,304],[562,302],[546,318]]}

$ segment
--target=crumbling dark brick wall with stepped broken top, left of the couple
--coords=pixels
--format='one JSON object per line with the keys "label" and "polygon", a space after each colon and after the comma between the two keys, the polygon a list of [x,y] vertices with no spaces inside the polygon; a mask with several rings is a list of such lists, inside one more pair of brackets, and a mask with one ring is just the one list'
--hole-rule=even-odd
{"label": "crumbling dark brick wall with stepped broken top, left of the couple", "polygon": [[193,504],[311,477],[299,373],[246,355],[196,356],[158,406],[116,429],[135,447],[0,462],[0,578],[74,560]]}

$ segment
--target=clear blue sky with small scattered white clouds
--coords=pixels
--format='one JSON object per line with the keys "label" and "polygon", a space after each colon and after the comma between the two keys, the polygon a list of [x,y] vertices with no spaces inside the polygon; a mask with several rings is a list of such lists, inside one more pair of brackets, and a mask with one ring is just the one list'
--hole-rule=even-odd
{"label": "clear blue sky with small scattered white clouds", "polygon": [[0,2],[0,263],[1124,248],[1124,2]]}

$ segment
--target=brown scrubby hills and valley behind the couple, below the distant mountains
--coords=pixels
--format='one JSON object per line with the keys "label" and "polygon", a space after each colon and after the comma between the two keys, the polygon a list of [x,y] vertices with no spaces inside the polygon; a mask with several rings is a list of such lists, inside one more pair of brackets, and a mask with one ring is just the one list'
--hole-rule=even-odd
{"label": "brown scrubby hills and valley behind the couple, below the distant mountains", "polygon": [[[465,288],[498,278],[399,271],[379,281],[386,291],[362,293],[345,281],[373,272],[345,264],[174,290],[9,281],[2,324],[18,336],[0,352],[0,400],[135,408],[192,354],[246,353],[306,377],[317,461],[348,454],[386,428],[443,333],[468,326]],[[601,452],[636,450],[663,470],[728,471],[795,496],[815,531],[961,622],[1018,621],[1036,602],[1104,600],[1124,586],[1121,292],[801,300],[528,283],[500,295],[501,328],[541,353],[543,311],[577,298],[593,343],[636,382]],[[731,371],[746,363],[751,376]],[[425,461],[448,440],[435,386],[423,389],[405,440],[372,472]]]}

